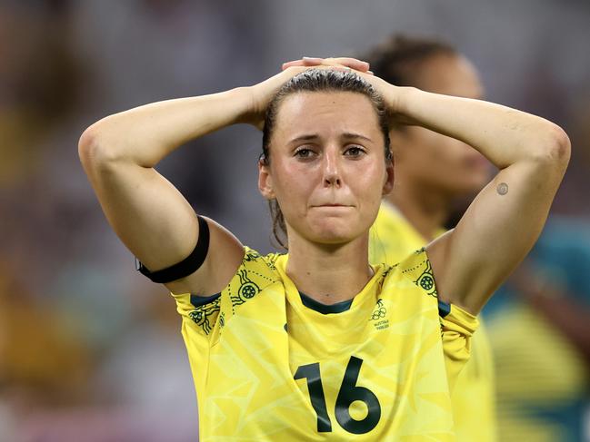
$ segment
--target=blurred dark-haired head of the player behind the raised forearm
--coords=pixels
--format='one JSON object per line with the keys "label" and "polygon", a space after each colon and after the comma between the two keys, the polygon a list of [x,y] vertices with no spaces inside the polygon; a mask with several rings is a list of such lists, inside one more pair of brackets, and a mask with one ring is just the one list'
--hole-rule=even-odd
{"label": "blurred dark-haired head of the player behind the raised forearm", "polygon": [[[398,86],[481,99],[474,66],[455,49],[434,39],[395,35],[365,60],[375,75]],[[450,196],[479,191],[489,181],[489,163],[471,146],[418,126],[392,128],[395,173],[400,183]]]}

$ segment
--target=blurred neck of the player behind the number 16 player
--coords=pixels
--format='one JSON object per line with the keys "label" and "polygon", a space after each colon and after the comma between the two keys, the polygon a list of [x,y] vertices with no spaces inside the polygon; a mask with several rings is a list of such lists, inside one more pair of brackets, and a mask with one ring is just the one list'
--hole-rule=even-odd
{"label": "blurred neck of the player behind the number 16 player", "polygon": [[451,196],[445,192],[435,188],[425,189],[410,181],[394,185],[393,192],[387,197],[387,201],[401,211],[427,242],[434,240],[436,232],[445,225],[451,200]]}

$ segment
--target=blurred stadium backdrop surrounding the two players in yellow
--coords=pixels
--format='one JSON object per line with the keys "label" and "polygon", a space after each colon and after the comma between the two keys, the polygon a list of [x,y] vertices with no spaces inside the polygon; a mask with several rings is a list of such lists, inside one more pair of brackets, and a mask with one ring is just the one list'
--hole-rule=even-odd
{"label": "blurred stadium backdrop surrounding the two players in yellow", "polygon": [[[303,55],[359,54],[394,32],[445,39],[479,69],[487,99],[570,135],[553,230],[485,315],[500,439],[590,440],[589,2],[0,0],[0,441],[198,438],[174,301],[107,225],[78,161],[85,128],[257,83]],[[260,145],[236,126],[158,169],[268,252]],[[535,418],[551,426],[523,438]]]}

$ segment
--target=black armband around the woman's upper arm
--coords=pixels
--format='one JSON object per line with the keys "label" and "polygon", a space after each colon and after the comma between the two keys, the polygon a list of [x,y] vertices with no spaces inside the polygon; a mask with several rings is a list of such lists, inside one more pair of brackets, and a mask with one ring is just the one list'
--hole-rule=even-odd
{"label": "black armband around the woman's upper arm", "polygon": [[198,270],[203,265],[207,257],[207,251],[209,250],[209,226],[207,225],[207,221],[202,217],[197,215],[196,218],[199,221],[199,239],[196,241],[195,250],[185,260],[181,260],[166,269],[150,271],[135,258],[137,270],[150,280],[161,284],[173,280],[180,280]]}

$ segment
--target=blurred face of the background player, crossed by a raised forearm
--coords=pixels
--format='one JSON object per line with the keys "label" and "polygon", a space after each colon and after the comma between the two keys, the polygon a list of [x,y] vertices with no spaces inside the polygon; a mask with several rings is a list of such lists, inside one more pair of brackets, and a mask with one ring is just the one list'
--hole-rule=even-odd
{"label": "blurred face of the background player, crossed by a raised forearm", "polygon": [[[436,55],[417,68],[417,85],[433,93],[481,99],[475,68],[464,57]],[[413,182],[451,196],[478,192],[489,182],[491,164],[465,142],[419,126],[392,131],[396,185]]]}

